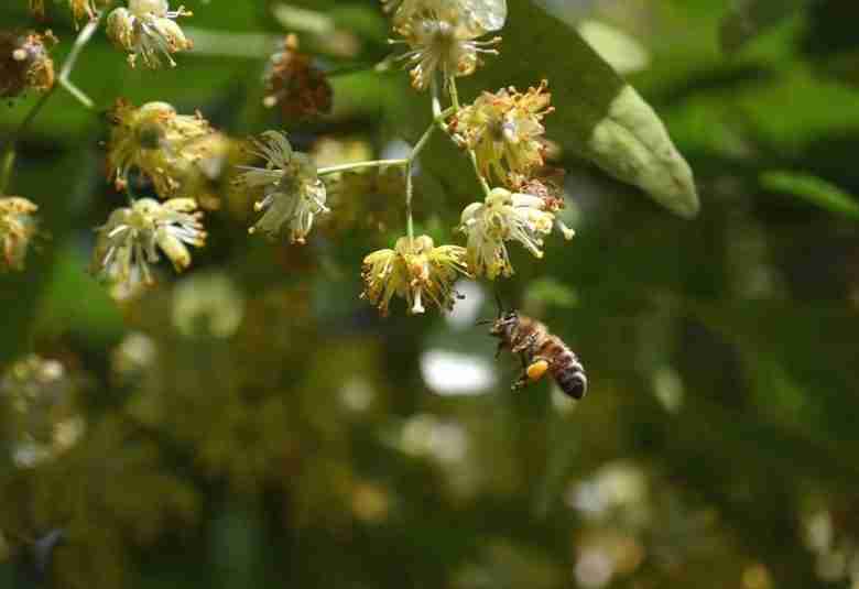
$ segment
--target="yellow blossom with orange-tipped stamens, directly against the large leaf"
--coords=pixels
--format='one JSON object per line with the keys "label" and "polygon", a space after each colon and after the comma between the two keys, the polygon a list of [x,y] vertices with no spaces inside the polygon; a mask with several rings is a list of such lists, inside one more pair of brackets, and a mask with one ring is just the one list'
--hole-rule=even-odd
{"label": "yellow blossom with orange-tipped stamens, directly against the large leaf", "polygon": [[547,83],[526,92],[502,88],[483,92],[454,116],[450,128],[460,146],[474,150],[483,176],[501,182],[510,173],[531,176],[544,165],[543,118],[552,112]]}

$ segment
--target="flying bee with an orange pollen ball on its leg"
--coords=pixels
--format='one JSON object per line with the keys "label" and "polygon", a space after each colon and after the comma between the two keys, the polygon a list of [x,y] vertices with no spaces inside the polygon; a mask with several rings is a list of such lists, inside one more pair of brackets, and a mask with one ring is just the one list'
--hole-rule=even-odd
{"label": "flying bee with an orange pollen ball on its leg", "polygon": [[546,372],[564,393],[573,399],[581,399],[587,393],[588,379],[585,368],[564,341],[552,335],[545,325],[520,315],[517,310],[502,313],[491,323],[489,335],[499,338],[496,358],[509,349],[522,359],[522,375],[513,383],[519,390],[542,379]]}

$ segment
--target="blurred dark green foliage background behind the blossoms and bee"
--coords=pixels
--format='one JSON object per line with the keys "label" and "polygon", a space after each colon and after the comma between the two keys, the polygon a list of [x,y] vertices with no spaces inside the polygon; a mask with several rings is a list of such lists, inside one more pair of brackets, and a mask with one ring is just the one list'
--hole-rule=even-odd
{"label": "blurred dark green foliage background behind the blossoms and bee", "polygon": [[[676,218],[577,157],[553,121],[578,120],[587,97],[550,76],[547,135],[565,148],[577,237],[547,242],[541,263],[515,252],[515,276],[469,298],[491,317],[498,292],[562,335],[589,375],[577,404],[551,383],[511,393],[518,367],[493,363],[474,317],[381,320],[358,299],[361,259],[402,233],[395,178],[335,196],[341,214],[303,248],[249,239],[250,199],[226,200],[187,275],[165,271],[140,301],[113,303],[87,268],[91,229],[124,204],[104,174],[118,96],[199,109],[237,137],[285,129],[303,150],[358,140],[376,155],[414,139],[403,112],[428,118],[428,99],[405,74],[372,70],[389,51],[372,0],[295,2],[323,17],[320,32],[296,31],[302,46],[340,72],[334,112],[309,122],[262,107],[265,55],[215,43],[175,69],[130,69],[99,33],[73,75],[98,112],[53,96],[10,188],[40,206],[45,237],[25,273],[0,274],[0,585],[859,582],[859,8],[793,2],[775,19],[757,3],[772,4],[554,2],[556,26],[600,20],[648,51],[628,81],[692,165],[703,206]],[[62,62],[67,9],[50,6],[40,24],[25,4],[3,2],[2,28],[51,28]],[[188,26],[226,40],[265,46],[286,32],[278,2],[186,4]],[[766,18],[726,55],[719,34],[737,10]],[[523,47],[532,25],[503,34]],[[564,33],[533,40],[554,57],[546,72],[564,69]],[[504,46],[464,97],[546,75]],[[36,99],[0,109],[3,139]],[[458,161],[441,137],[431,150],[420,230],[454,241],[479,188],[467,167],[439,165]],[[489,367],[482,394],[439,394],[430,350]],[[33,353],[62,371],[32,377]],[[22,413],[15,374],[62,418]],[[22,415],[41,446],[22,441]]]}

